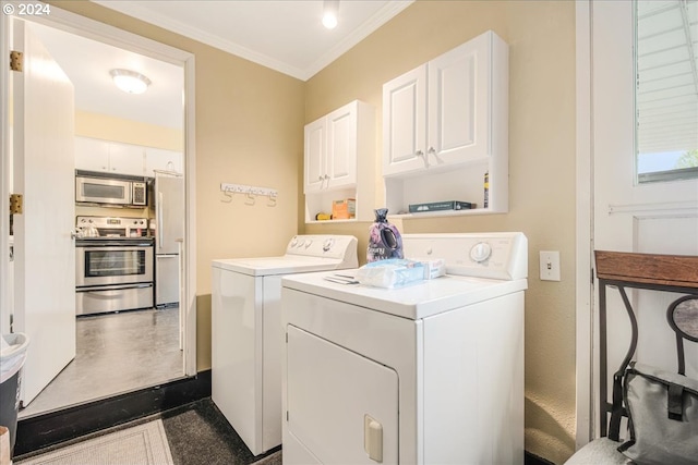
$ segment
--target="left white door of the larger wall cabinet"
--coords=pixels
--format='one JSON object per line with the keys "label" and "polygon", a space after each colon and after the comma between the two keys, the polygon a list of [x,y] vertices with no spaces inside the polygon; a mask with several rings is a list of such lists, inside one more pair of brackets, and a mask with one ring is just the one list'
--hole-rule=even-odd
{"label": "left white door of the larger wall cabinet", "polygon": [[426,167],[426,65],[383,86],[383,174]]}

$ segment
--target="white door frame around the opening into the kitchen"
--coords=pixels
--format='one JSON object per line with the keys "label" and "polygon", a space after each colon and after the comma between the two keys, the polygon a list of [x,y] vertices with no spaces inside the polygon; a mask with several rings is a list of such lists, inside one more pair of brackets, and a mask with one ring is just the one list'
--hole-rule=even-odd
{"label": "white door frame around the opening into the kitchen", "polygon": [[[2,4],[10,2],[2,2]],[[3,57],[10,52],[10,24],[13,17],[0,16],[2,34],[0,50]],[[184,314],[184,374],[196,375],[196,157],[195,157],[195,62],[194,54],[174,47],[157,42],[136,34],[99,23],[85,16],[71,13],[51,4],[50,14],[44,16],[22,16],[22,20],[36,22],[49,27],[62,29],[82,37],[95,39],[111,46],[144,54],[160,61],[180,65],[184,70],[184,254],[182,276],[182,303]],[[0,60],[0,101],[9,102],[9,60]],[[10,120],[8,105],[0,106],[0,146],[2,175],[0,175],[0,331],[10,332],[11,286],[9,280],[10,260],[10,211],[7,199],[10,195],[10,173],[12,150],[10,140]]]}

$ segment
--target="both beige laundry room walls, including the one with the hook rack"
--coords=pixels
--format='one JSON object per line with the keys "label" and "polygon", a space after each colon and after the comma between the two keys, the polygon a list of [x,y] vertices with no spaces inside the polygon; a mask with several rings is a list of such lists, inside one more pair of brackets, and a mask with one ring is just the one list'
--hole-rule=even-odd
{"label": "both beige laundry room walls, including the one with the hook rack", "polygon": [[[308,83],[89,2],[51,2],[196,57],[197,367],[210,367],[210,260],[282,252],[298,231],[349,233],[369,223],[303,223],[303,124],[353,99],[377,108],[384,82],[486,30],[509,50],[506,215],[423,220],[404,232],[522,231],[526,449],[562,463],[575,431],[575,5],[554,1],[418,1]],[[380,157],[375,160],[380,170]],[[220,182],[273,187],[274,208],[224,204]],[[382,186],[381,179],[376,184]],[[383,201],[377,189],[376,206]],[[538,252],[561,250],[562,282],[538,279]],[[363,254],[360,254],[360,256]],[[364,258],[362,258],[364,260]]]}

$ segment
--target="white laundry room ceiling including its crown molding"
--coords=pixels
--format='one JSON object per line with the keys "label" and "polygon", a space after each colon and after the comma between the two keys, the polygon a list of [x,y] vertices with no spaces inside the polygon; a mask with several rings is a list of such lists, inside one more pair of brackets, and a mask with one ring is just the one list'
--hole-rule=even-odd
{"label": "white laundry room ceiling including its crown molding", "polygon": [[326,29],[322,0],[93,1],[303,81],[413,2],[341,0]]}

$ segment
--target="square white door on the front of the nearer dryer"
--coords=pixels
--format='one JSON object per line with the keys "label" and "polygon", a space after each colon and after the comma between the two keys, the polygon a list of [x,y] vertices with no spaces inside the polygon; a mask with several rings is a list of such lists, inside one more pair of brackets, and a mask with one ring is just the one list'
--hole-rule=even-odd
{"label": "square white door on the front of the nearer dryer", "polygon": [[287,357],[288,431],[308,451],[325,465],[398,463],[395,370],[290,325]]}

